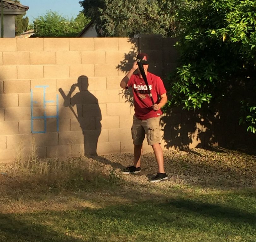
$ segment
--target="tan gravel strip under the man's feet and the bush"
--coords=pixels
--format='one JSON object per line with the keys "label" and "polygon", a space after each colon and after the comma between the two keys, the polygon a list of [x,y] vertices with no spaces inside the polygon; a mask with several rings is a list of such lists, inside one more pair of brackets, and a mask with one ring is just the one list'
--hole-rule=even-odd
{"label": "tan gravel strip under the man's feet and the bush", "polygon": [[[105,155],[96,159],[105,173],[113,171],[125,181],[147,183],[157,172],[154,153],[143,155],[141,173],[121,175],[121,169],[133,162],[131,153]],[[165,151],[165,171],[170,184],[191,184],[207,187],[256,187],[256,155],[214,148],[189,151]]]}

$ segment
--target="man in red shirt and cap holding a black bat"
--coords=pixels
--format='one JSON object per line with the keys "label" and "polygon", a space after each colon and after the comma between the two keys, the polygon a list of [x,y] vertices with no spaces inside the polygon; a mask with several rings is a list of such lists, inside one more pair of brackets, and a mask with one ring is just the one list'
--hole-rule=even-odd
{"label": "man in red shirt and cap holding a black bat", "polygon": [[[121,80],[120,87],[131,87],[134,94],[134,111],[131,134],[134,144],[134,164],[123,170],[123,174],[138,173],[141,171],[140,162],[143,152],[142,143],[147,135],[148,145],[153,147],[155,158],[158,164],[158,173],[152,177],[150,182],[157,182],[167,179],[164,170],[163,151],[160,146],[160,115],[161,107],[167,102],[166,89],[160,77],[148,72],[148,55],[140,53],[137,60],[142,60],[148,86],[152,94],[154,105],[150,99],[148,88],[138,68],[137,61],[133,63],[131,70]],[[138,74],[133,74],[138,70]]]}

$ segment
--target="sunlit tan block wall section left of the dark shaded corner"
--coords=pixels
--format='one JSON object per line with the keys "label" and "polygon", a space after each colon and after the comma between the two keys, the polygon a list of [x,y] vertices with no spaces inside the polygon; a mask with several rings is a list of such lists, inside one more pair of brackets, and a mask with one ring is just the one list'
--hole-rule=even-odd
{"label": "sunlit tan block wall section left of the dark shaded corner", "polygon": [[132,152],[119,83],[138,48],[138,38],[0,39],[0,161],[33,146],[40,157]]}

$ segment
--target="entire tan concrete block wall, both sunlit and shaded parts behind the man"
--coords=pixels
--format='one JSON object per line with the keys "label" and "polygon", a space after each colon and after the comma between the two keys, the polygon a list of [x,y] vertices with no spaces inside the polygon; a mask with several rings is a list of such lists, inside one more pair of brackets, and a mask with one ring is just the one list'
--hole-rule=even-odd
{"label": "entire tan concrete block wall, both sunlit and shaded parts behind the man", "polygon": [[[133,100],[120,80],[140,50],[167,84],[175,43],[160,36],[0,39],[0,162],[35,147],[39,157],[133,152]],[[225,110],[172,108],[161,118],[162,147],[226,146],[241,137],[256,145],[255,135],[225,117]],[[152,151],[146,141],[144,151]]]}

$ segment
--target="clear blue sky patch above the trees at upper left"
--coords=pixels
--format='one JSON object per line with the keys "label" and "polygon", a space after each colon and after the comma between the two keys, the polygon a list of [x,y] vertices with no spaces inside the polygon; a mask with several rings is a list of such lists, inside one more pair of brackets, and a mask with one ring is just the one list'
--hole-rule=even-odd
{"label": "clear blue sky patch above the trees at upper left", "polygon": [[57,12],[69,19],[72,16],[76,17],[79,11],[83,10],[79,0],[20,0],[20,3],[29,7],[26,16],[31,23],[36,17],[44,15],[48,10]]}

